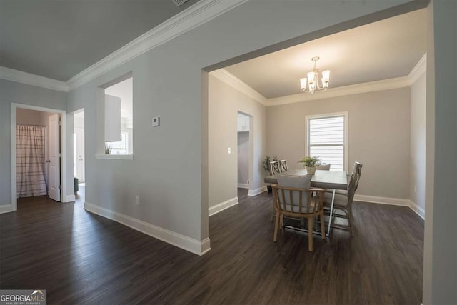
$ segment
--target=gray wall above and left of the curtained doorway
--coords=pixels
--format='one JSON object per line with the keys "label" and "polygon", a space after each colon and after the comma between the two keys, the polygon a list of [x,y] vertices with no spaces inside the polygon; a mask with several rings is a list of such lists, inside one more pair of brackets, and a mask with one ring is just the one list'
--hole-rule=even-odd
{"label": "gray wall above and left of the curtained doorway", "polygon": [[0,205],[11,204],[11,103],[65,110],[66,93],[0,79]]}

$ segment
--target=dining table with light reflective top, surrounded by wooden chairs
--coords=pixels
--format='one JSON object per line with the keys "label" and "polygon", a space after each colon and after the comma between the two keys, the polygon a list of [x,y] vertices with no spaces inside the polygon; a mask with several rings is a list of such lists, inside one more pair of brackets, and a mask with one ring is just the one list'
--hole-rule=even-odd
{"label": "dining table with light reflective top, surrounded by wooden chairs", "polygon": [[[293,169],[280,173],[287,176],[306,176],[306,169]],[[268,184],[278,184],[278,174],[266,176],[263,181]],[[335,201],[335,193],[337,189],[348,189],[348,178],[346,171],[323,171],[316,169],[316,173],[311,178],[311,187],[328,189],[332,192],[330,215],[328,219],[328,228],[326,236],[330,235],[331,221],[333,216],[333,203]]]}

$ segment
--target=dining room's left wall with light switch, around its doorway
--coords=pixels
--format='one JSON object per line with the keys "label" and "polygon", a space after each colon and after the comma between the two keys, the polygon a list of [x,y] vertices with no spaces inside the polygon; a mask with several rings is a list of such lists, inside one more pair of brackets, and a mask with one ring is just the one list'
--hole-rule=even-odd
{"label": "dining room's left wall with light switch, around its doorway", "polygon": [[248,160],[248,177],[251,180],[249,189],[256,190],[263,186],[261,160],[266,147],[266,107],[210,74],[209,206],[238,196],[238,111],[249,114],[253,127],[249,131],[253,140],[253,156],[249,158],[253,159]]}

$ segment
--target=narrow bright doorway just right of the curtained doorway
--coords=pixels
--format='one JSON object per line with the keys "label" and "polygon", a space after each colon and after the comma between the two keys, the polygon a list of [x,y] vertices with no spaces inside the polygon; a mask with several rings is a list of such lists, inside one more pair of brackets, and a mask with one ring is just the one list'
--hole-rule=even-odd
{"label": "narrow bright doorway just right of the curtained doorway", "polygon": [[73,129],[73,174],[76,199],[84,196],[86,186],[84,166],[84,109],[74,112]]}

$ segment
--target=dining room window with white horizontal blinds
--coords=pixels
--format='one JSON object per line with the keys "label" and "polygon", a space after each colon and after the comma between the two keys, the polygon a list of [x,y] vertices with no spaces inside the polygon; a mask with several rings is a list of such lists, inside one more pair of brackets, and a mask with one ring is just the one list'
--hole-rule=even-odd
{"label": "dining room window with white horizontal blinds", "polygon": [[307,154],[331,164],[333,171],[347,169],[347,113],[306,116]]}

